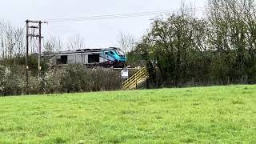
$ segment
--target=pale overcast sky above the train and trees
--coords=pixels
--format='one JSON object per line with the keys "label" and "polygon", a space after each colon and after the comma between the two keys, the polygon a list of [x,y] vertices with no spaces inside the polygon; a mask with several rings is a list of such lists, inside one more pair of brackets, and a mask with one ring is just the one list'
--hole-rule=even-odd
{"label": "pale overcast sky above the train and trees", "polygon": [[[14,26],[25,26],[26,19],[73,18],[105,14],[127,14],[145,11],[177,10],[182,0],[4,0],[0,19]],[[195,7],[204,7],[206,0],[186,0]],[[63,39],[80,34],[86,48],[117,46],[123,32],[140,38],[150,28],[152,16],[118,18],[83,22],[57,22],[43,26],[42,34]]]}

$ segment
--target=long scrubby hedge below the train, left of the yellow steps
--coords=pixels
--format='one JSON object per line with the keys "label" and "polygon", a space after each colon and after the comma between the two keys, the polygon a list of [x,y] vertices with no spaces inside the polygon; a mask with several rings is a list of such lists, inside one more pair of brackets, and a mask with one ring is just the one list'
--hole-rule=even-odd
{"label": "long scrubby hedge below the train, left of the yellow steps", "polygon": [[[73,93],[99,90],[119,90],[122,81],[119,71],[82,65],[55,67],[42,73],[29,71],[26,89],[26,73],[23,66],[0,65],[0,95]],[[27,91],[26,91],[27,90]]]}

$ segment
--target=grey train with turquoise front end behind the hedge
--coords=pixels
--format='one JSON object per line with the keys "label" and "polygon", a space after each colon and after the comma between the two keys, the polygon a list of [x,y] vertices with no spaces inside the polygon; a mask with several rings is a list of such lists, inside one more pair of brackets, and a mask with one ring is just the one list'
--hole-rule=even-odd
{"label": "grey train with turquoise front end behind the hedge", "polygon": [[49,52],[44,56],[50,57],[50,66],[82,64],[123,68],[127,62],[126,54],[117,47]]}

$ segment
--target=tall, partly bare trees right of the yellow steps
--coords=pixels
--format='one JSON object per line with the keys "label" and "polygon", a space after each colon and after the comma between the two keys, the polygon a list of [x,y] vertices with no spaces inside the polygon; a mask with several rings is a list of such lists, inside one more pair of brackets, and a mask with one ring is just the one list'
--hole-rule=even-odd
{"label": "tall, partly bare trees right of the yellow steps", "polygon": [[182,7],[155,18],[131,53],[146,63],[149,87],[252,84],[255,12],[254,0],[208,0],[202,18]]}

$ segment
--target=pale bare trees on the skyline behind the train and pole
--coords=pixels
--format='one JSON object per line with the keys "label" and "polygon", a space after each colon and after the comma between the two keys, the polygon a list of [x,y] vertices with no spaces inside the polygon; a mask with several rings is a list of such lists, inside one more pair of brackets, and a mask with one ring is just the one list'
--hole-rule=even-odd
{"label": "pale bare trees on the skyline behind the train and pole", "polygon": [[[30,30],[34,34],[34,30]],[[38,39],[29,39],[29,53],[38,53]],[[42,39],[42,51],[78,50],[85,48],[80,34],[67,38],[50,37]],[[10,22],[0,22],[0,60],[21,58],[26,54],[26,27],[12,26]]]}

